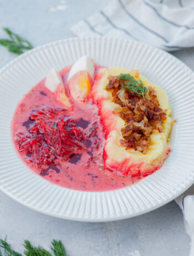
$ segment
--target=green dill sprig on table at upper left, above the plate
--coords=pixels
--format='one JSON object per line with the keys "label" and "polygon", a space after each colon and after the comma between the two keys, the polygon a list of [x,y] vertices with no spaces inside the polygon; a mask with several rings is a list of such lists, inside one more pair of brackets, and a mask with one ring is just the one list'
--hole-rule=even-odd
{"label": "green dill sprig on table at upper left, above the plate", "polygon": [[33,48],[28,40],[12,32],[9,28],[3,28],[3,30],[7,33],[9,39],[0,39],[0,45],[7,47],[9,52],[22,54],[24,50]]}

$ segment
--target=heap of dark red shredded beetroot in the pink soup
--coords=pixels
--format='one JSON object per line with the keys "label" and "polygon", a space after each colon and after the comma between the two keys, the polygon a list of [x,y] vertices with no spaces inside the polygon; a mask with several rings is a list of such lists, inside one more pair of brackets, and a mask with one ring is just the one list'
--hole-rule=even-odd
{"label": "heap of dark red shredded beetroot in the pink soup", "polygon": [[33,112],[29,117],[34,121],[33,126],[27,134],[17,134],[18,150],[33,156],[38,168],[46,169],[50,164],[57,164],[59,158],[68,161],[71,156],[86,150],[85,136],[76,127],[77,120],[64,121],[64,112],[64,109],[51,107]]}

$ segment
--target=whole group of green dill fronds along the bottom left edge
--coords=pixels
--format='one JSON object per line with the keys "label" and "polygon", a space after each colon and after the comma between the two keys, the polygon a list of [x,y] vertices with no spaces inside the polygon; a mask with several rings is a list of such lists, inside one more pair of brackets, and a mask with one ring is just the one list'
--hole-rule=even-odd
{"label": "whole group of green dill fronds along the bottom left edge", "polygon": [[[50,252],[43,247],[33,246],[29,240],[24,240],[24,255],[26,256],[52,256]],[[1,250],[1,248],[3,250]],[[60,240],[52,240],[50,249],[54,256],[67,256],[65,248]],[[12,249],[11,245],[7,243],[7,239],[0,239],[0,256],[23,256],[21,253]]]}

